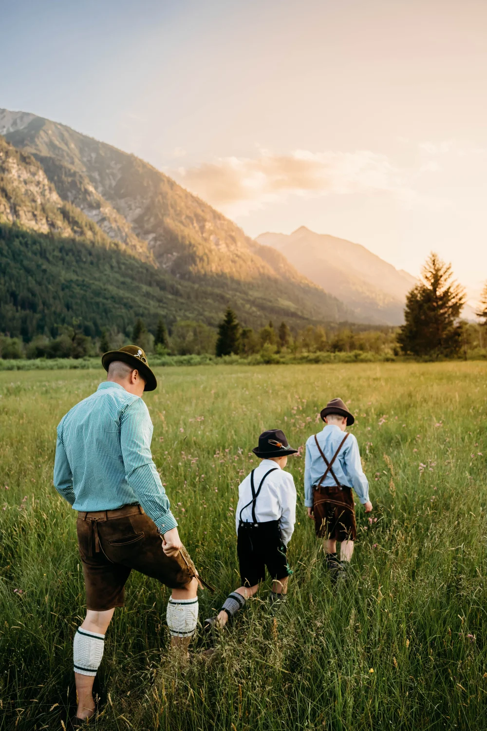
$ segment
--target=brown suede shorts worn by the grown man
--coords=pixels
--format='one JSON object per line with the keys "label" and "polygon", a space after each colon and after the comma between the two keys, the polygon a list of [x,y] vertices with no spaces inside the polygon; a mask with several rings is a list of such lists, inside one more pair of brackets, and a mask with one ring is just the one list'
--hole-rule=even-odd
{"label": "brown suede shorts worn by the grown man", "polygon": [[79,512],[76,529],[87,609],[104,612],[123,607],[124,587],[132,569],[170,588],[191,581],[183,556],[166,556],[156,525],[139,505]]}

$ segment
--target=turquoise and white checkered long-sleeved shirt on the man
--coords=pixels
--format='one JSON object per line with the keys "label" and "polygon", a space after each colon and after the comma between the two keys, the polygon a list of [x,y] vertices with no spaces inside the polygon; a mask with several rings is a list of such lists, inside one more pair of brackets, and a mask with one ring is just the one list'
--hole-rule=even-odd
{"label": "turquoise and white checkered long-sleeved shirt on the man", "polygon": [[177,526],[150,452],[153,425],[142,398],[101,383],[61,419],[54,485],[74,510],[139,503],[161,533]]}

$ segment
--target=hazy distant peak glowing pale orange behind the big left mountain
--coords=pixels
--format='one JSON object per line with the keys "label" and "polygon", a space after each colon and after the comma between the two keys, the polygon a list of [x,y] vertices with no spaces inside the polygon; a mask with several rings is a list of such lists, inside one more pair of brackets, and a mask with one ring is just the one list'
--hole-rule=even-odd
{"label": "hazy distant peak glowing pale orange behind the big left mountain", "polygon": [[406,295],[417,280],[361,244],[305,226],[290,235],[267,232],[256,240],[284,254],[299,272],[340,298],[361,319],[388,325],[403,322]]}

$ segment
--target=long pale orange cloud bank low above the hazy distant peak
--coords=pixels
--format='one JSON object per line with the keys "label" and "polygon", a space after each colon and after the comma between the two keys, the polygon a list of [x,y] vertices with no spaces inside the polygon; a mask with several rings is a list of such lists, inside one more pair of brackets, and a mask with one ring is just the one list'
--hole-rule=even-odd
{"label": "long pale orange cloud bank low above the hazy distant peak", "polygon": [[394,167],[385,155],[371,151],[291,154],[259,151],[255,158],[226,157],[176,176],[185,187],[229,215],[241,216],[289,195],[389,192],[402,205],[418,201],[411,172]]}

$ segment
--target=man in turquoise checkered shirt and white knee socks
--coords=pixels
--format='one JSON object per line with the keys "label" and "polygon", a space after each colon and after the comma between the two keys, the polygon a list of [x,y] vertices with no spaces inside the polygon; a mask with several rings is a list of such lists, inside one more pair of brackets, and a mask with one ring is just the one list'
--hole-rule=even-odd
{"label": "man in turquoise checkered shirt and white knee socks", "polygon": [[142,348],[128,345],[101,358],[108,373],[91,396],[58,425],[54,485],[78,511],[86,617],[74,635],[74,678],[81,727],[93,716],[93,681],[115,607],[123,607],[131,569],[172,588],[167,624],[185,653],[196,629],[196,569],[185,552],[150,452],[153,425],[144,391],[157,387]]}

